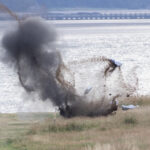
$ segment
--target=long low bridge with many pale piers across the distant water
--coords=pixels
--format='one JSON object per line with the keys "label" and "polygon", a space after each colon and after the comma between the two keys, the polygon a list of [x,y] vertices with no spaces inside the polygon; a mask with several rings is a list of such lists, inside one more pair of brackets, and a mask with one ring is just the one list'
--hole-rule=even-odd
{"label": "long low bridge with many pale piers across the distant water", "polygon": [[147,13],[47,13],[41,15],[47,20],[105,20],[105,19],[150,19]]}

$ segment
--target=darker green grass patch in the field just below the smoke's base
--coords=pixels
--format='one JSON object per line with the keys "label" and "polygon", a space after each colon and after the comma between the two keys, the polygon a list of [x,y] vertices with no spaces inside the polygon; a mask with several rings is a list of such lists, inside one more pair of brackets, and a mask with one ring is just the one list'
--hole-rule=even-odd
{"label": "darker green grass patch in the field just below the smoke's base", "polygon": [[60,133],[60,132],[81,132],[93,128],[96,124],[76,121],[76,119],[64,120],[59,118],[56,122],[48,119],[44,124],[35,124],[28,131],[28,134],[36,133]]}

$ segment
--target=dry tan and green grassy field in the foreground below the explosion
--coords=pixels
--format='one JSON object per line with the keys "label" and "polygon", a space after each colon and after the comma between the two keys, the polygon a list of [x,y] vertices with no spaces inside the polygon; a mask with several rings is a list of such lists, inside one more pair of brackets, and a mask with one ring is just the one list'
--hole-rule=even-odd
{"label": "dry tan and green grassy field in the foreground below the explosion", "polygon": [[121,103],[140,107],[96,118],[1,114],[0,150],[149,150],[150,98]]}

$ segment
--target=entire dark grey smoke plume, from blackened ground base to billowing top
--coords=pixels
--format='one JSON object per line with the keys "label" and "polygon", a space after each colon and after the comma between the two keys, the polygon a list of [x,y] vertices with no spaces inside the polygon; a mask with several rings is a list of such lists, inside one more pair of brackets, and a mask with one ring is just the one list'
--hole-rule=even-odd
{"label": "entire dark grey smoke plume, from blackened ground base to billowing top", "polygon": [[55,30],[41,18],[21,20],[4,35],[5,62],[15,64],[22,87],[38,93],[43,101],[52,101],[65,117],[107,115],[116,110],[105,99],[86,102],[63,80],[65,65],[55,48],[56,37]]}

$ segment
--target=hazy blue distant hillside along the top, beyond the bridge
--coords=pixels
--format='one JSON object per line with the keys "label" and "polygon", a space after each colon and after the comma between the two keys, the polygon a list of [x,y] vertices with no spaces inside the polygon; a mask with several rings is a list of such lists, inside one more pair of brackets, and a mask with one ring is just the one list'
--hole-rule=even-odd
{"label": "hazy blue distant hillside along the top, beyond the bridge", "polygon": [[150,0],[0,0],[13,11],[46,9],[150,9]]}

